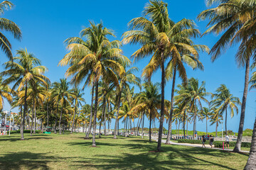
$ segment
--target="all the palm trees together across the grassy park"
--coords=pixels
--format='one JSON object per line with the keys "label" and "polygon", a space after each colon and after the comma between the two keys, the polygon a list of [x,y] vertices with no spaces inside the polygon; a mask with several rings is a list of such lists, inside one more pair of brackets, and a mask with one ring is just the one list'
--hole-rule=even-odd
{"label": "all the palm trees together across the grassy park", "polygon": [[[206,11],[201,12],[198,15],[198,20],[209,20],[208,30],[203,35],[208,33],[222,33],[218,42],[210,49],[210,55],[214,62],[223,51],[230,45],[238,43],[238,52],[235,55],[235,60],[238,62],[238,66],[245,67],[245,89],[242,97],[240,126],[238,130],[238,140],[234,151],[240,152],[242,142],[242,129],[245,120],[245,106],[247,100],[247,91],[249,82],[252,83],[252,88],[255,88],[255,73],[252,75],[251,81],[249,80],[250,72],[250,60],[252,60],[252,67],[255,66],[255,6],[254,0],[207,0],[208,6],[214,6],[208,8]],[[1,14],[4,9],[11,8],[12,4],[9,1],[4,1],[0,4]],[[21,38],[21,30],[15,23],[1,18],[1,28],[10,31],[14,38]],[[145,97],[138,97],[138,103],[141,107],[147,108],[151,118],[154,118],[154,113],[160,110],[159,115],[159,137],[157,150],[161,149],[161,136],[163,130],[163,123],[165,115],[169,117],[169,132],[167,142],[171,138],[171,123],[174,116],[175,108],[177,106],[180,109],[180,113],[186,115],[187,112],[193,113],[194,131],[196,130],[196,117],[199,114],[198,111],[203,112],[201,105],[201,99],[206,103],[210,103],[215,109],[214,113],[225,113],[225,121],[227,120],[227,108],[230,108],[230,113],[233,115],[234,110],[238,112],[237,105],[240,104],[238,98],[230,95],[229,91],[225,90],[225,86],[221,86],[217,94],[214,95],[215,99],[212,102],[208,102],[205,96],[209,95],[204,85],[199,86],[196,79],[187,79],[185,64],[188,64],[192,69],[203,69],[203,64],[199,61],[199,52],[208,52],[209,49],[205,45],[196,45],[193,40],[201,35],[193,21],[188,19],[182,19],[175,23],[169,18],[169,12],[167,4],[163,1],[151,0],[146,4],[141,17],[134,18],[128,23],[129,30],[122,36],[122,42],[119,40],[110,41],[110,37],[114,37],[112,30],[105,28],[102,23],[95,24],[90,22],[90,27],[83,29],[80,32],[80,37],[68,38],[65,40],[70,52],[68,52],[59,65],[68,65],[69,68],[66,72],[66,76],[71,78],[70,83],[74,86],[82,84],[82,89],[86,86],[92,87],[92,103],[90,111],[89,128],[93,127],[92,146],[95,147],[95,130],[97,126],[97,113],[99,106],[102,107],[102,118],[105,119],[105,112],[112,107],[107,103],[106,89],[114,89],[114,108],[115,113],[115,125],[114,125],[114,138],[117,138],[117,128],[119,125],[119,115],[122,113],[132,113],[139,111],[137,108],[132,108],[132,102],[128,96],[124,101],[122,98],[123,91],[129,91],[129,84],[135,84],[139,86],[139,78],[137,78],[132,72],[136,68],[130,68],[130,60],[122,54],[122,44],[138,44],[139,50],[134,52],[132,57],[134,60],[142,60],[144,57],[151,57],[149,64],[143,69],[142,76],[150,84],[152,74],[156,70],[161,70],[161,95],[152,100],[160,100],[159,105],[146,104],[150,101],[145,100]],[[39,60],[36,59],[31,53],[26,50],[18,50],[18,57],[12,57],[11,44],[7,38],[1,33],[1,48],[9,57],[10,62],[5,63],[6,71],[2,72],[4,79],[3,84],[14,84],[13,88],[9,90],[10,93],[16,93],[18,96],[19,105],[23,105],[22,111],[22,126],[21,126],[21,139],[23,139],[23,126],[25,115],[28,112],[28,105],[32,106],[34,111],[36,103],[41,103],[41,95],[38,98],[33,96],[29,98],[29,89],[32,91],[41,91],[36,86],[49,87],[49,79],[43,76],[46,72],[46,67],[41,66]],[[12,61],[14,60],[14,62]],[[130,69],[129,69],[130,68]],[[177,96],[174,97],[176,74],[179,74],[183,84],[178,86]],[[171,102],[165,100],[164,86],[165,82],[169,79],[172,81],[171,89]],[[62,84],[61,84],[62,83]],[[36,85],[37,84],[37,85]],[[103,89],[99,88],[100,84],[105,84]],[[60,82],[60,84],[53,84],[51,95],[53,95],[53,101],[56,106],[55,111],[59,118],[59,130],[61,130],[62,116],[65,112],[66,106],[70,98],[74,100],[74,116],[75,118],[78,108],[78,98],[75,99],[75,92],[71,92],[68,88],[68,82]],[[3,88],[4,88],[3,86]],[[145,85],[145,89],[149,85]],[[195,89],[196,88],[196,89]],[[58,89],[58,90],[57,90]],[[61,90],[60,90],[61,89]],[[128,90],[129,89],[129,90]],[[55,91],[55,92],[54,92]],[[101,92],[100,92],[101,91]],[[188,91],[193,91],[189,93]],[[130,91],[131,92],[131,91]],[[38,92],[40,94],[41,92]],[[55,96],[54,96],[55,94]],[[144,94],[145,95],[145,94]],[[159,98],[160,97],[160,98]],[[8,97],[6,97],[8,98]],[[9,100],[10,101],[10,100]],[[33,104],[31,104],[33,103]],[[125,106],[124,103],[127,103]],[[142,103],[144,103],[144,106]],[[170,107],[168,107],[170,105]],[[48,108],[48,107],[47,107]],[[124,111],[122,111],[122,109]],[[167,110],[170,110],[169,112]],[[22,107],[21,107],[22,110]],[[59,111],[60,110],[60,111]],[[130,111],[129,111],[130,110]],[[68,110],[67,110],[68,111]],[[207,111],[205,111],[207,112]],[[215,115],[218,118],[222,115]],[[143,116],[141,116],[143,117]],[[34,118],[36,118],[36,112],[34,111]],[[149,119],[151,119],[149,118]],[[132,117],[131,117],[132,119]],[[74,122],[74,121],[73,121]],[[36,122],[35,122],[36,123]],[[55,124],[57,120],[55,120]],[[101,123],[101,121],[100,121]],[[106,125],[105,121],[104,124]],[[90,130],[87,130],[87,135]],[[249,165],[252,163],[248,163]]]}

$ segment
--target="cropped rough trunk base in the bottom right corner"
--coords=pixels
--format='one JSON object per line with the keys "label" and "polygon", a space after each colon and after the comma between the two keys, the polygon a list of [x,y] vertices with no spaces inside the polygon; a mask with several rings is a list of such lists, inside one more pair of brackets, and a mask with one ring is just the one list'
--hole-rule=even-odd
{"label": "cropped rough trunk base in the bottom right corner", "polygon": [[252,132],[252,145],[250,148],[250,155],[247,164],[245,165],[245,170],[251,169],[256,169],[256,119]]}

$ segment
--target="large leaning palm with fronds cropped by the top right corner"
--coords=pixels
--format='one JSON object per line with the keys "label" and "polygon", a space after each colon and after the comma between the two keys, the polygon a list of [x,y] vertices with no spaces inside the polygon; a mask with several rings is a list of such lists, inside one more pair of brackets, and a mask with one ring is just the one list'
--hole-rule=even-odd
{"label": "large leaning palm with fronds cropped by the top right corner", "polygon": [[[235,60],[239,67],[245,67],[245,87],[242,95],[242,106],[240,115],[240,125],[238,130],[238,140],[236,142],[234,152],[240,152],[242,143],[242,130],[245,123],[245,106],[247,100],[250,58],[255,58],[255,11],[252,10],[256,6],[256,1],[233,1],[233,0],[208,0],[209,8],[198,15],[199,20],[208,19],[207,33],[219,34],[224,31],[218,42],[215,43],[210,50],[212,61],[226,50],[228,46],[232,46],[235,42],[239,42],[238,52]],[[215,7],[217,5],[217,7]],[[238,17],[239,16],[239,17]]]}

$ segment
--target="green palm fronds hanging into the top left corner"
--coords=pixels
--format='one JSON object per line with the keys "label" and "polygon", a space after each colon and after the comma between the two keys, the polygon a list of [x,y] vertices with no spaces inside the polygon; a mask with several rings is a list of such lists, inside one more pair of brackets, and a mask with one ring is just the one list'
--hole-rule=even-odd
{"label": "green palm fronds hanging into the top left corner", "polygon": [[[5,10],[9,10],[13,8],[13,6],[14,4],[12,4],[10,1],[1,2],[0,15],[3,15]],[[0,28],[4,32],[9,32],[12,35],[14,35],[15,39],[21,40],[21,30],[13,21],[10,21],[9,19],[6,19],[6,18],[0,18]],[[6,36],[4,36],[4,34],[1,32],[0,32],[0,47],[1,47],[1,50],[3,50],[6,56],[9,58],[9,60],[12,61],[13,55],[11,53],[11,43],[6,38]]]}

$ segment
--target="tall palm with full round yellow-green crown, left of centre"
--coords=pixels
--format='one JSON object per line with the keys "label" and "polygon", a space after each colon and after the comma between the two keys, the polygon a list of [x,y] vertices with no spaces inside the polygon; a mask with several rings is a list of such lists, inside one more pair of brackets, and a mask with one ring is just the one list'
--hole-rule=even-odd
{"label": "tall palm with full round yellow-green crown, left of centre", "polygon": [[[109,77],[117,83],[115,73],[122,74],[124,72],[122,64],[129,63],[129,59],[121,54],[122,50],[119,48],[121,42],[117,40],[111,42],[107,39],[107,35],[114,36],[113,31],[105,28],[102,23],[95,25],[90,22],[90,27],[80,32],[81,38],[65,40],[70,52],[59,63],[70,64],[66,76],[73,77],[71,79],[73,84],[78,85],[85,79],[85,85],[92,84],[92,87],[95,87],[92,147],[96,147],[98,82],[102,77]],[[85,38],[85,41],[82,38]]]}

